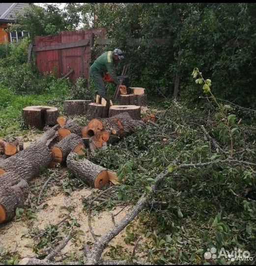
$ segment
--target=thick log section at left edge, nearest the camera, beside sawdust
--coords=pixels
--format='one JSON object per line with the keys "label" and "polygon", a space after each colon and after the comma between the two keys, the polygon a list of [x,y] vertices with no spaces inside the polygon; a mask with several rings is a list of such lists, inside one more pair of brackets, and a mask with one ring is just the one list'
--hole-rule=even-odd
{"label": "thick log section at left edge, nearest the camera, beside sawdust", "polygon": [[28,182],[19,173],[8,172],[1,175],[0,187],[0,224],[15,216],[17,207],[24,206],[28,197]]}

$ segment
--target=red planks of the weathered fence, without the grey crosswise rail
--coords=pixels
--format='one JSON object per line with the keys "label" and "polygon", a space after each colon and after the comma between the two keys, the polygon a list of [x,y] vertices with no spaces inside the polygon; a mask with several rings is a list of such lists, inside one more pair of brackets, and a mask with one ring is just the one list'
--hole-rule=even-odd
{"label": "red planks of the weathered fence, without the grey crosswise rail", "polygon": [[[87,31],[61,32],[57,35],[36,36],[36,48],[57,43],[68,43],[76,40],[90,39],[91,33],[99,37],[105,37],[106,29],[98,28]],[[40,73],[55,72],[56,77],[61,77],[73,69],[69,78],[75,82],[78,77],[88,78],[89,64],[91,59],[90,46],[64,48],[36,52],[36,65]]]}

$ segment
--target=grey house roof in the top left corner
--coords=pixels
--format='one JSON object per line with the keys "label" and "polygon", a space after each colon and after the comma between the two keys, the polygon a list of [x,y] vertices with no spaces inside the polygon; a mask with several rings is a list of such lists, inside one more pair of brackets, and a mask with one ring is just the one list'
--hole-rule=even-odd
{"label": "grey house roof in the top left corner", "polygon": [[0,20],[13,21],[16,13],[30,3],[0,3]]}

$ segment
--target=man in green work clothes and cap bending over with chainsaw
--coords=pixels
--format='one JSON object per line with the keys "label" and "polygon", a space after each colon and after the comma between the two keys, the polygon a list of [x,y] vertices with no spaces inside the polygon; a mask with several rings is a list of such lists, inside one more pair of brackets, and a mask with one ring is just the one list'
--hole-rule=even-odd
{"label": "man in green work clothes and cap bending over with chainsaw", "polygon": [[[103,98],[106,97],[106,87],[104,84],[103,75],[109,72],[114,83],[119,85],[118,79],[114,71],[114,63],[124,59],[123,52],[120,49],[114,49],[114,51],[108,51],[98,57],[90,67],[90,76],[93,79],[98,95]],[[108,100],[108,99],[106,99]]]}

